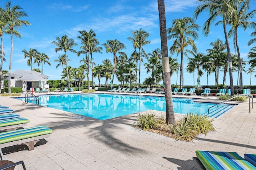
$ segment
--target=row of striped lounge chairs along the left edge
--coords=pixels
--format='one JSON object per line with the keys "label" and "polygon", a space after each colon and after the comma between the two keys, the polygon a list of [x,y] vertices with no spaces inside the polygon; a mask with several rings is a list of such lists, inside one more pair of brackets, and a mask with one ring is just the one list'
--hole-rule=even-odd
{"label": "row of striped lounge chairs along the left edge", "polygon": [[8,109],[0,109],[0,131],[4,131],[0,132],[1,159],[4,159],[2,148],[24,144],[28,146],[28,150],[33,150],[36,142],[49,137],[52,133],[52,129],[46,126],[18,129],[26,126],[29,120],[13,113],[9,107],[6,108]]}

